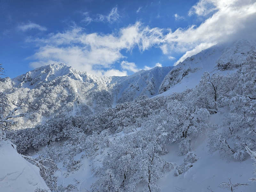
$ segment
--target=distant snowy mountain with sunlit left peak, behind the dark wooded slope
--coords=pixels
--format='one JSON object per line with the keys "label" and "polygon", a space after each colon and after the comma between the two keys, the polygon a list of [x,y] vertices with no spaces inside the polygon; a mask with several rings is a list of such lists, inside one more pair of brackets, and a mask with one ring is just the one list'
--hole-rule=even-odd
{"label": "distant snowy mountain with sunlit left peak, behind the dark wooded slope", "polygon": [[[36,68],[0,82],[1,91],[18,100],[39,122],[55,115],[92,114],[132,101],[139,95],[155,96],[172,67],[141,70],[131,76],[98,77],[65,64]],[[13,105],[13,108],[15,106]],[[21,124],[33,125],[23,119]]]}

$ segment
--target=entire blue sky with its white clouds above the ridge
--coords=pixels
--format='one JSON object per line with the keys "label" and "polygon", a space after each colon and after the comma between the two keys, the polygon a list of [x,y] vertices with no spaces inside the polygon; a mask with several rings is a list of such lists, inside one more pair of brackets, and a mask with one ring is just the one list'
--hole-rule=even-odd
{"label": "entire blue sky with its white clouds above the ridge", "polygon": [[64,62],[98,76],[171,66],[248,33],[252,0],[0,1],[6,76]]}

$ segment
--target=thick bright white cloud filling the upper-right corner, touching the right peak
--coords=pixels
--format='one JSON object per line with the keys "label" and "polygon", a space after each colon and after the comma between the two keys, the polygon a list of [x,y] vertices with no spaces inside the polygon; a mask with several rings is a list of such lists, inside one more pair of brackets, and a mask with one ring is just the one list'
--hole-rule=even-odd
{"label": "thick bright white cloud filling the upper-right corner, touching the right peak", "polygon": [[[206,3],[205,3],[206,2]],[[214,6],[209,6],[213,4]],[[256,3],[250,0],[201,0],[193,6],[193,12],[206,16],[215,11],[200,26],[178,28],[165,37],[163,52],[186,52],[178,62],[217,43],[237,38],[255,38]],[[232,21],[232,22],[231,22]],[[254,26],[254,27],[253,27]],[[162,48],[162,47],[161,47]]]}

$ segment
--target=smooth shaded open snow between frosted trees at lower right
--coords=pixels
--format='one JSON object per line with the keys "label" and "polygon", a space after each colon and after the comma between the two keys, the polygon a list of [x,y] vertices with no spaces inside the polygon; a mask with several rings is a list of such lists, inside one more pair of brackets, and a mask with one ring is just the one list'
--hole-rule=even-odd
{"label": "smooth shaded open snow between frosted trees at lower right", "polygon": [[[218,113],[212,114],[209,123],[217,124],[220,130],[223,129],[222,121],[228,115],[228,110],[219,108]],[[211,131],[211,130],[208,130]],[[248,183],[248,178],[252,175],[253,160],[247,157],[245,161],[237,162],[223,157],[219,152],[209,154],[207,147],[207,135],[198,138],[192,143],[194,153],[199,159],[187,172],[175,176],[174,170],[160,179],[162,192],[206,192],[212,191],[225,192],[221,189],[221,182]],[[169,153],[163,156],[164,160],[173,162],[177,166],[183,163],[184,156],[179,155],[178,145],[169,146]],[[239,190],[240,189],[240,190]],[[238,188],[238,191],[255,191],[255,184]]]}

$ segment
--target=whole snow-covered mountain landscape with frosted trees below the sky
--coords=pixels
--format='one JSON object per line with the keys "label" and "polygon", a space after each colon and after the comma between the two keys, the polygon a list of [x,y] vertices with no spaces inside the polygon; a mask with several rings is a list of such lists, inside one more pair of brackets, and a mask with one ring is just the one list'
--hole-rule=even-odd
{"label": "whole snow-covered mountain landscape with frosted trees below the sky", "polygon": [[0,84],[3,191],[255,192],[254,42],[132,76],[53,64]]}

